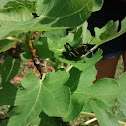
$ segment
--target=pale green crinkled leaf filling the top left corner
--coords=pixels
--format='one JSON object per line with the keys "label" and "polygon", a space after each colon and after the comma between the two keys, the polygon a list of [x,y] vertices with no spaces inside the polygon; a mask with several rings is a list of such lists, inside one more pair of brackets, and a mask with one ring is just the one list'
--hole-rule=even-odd
{"label": "pale green crinkled leaf filling the top left corner", "polygon": [[[33,2],[34,3],[34,2]],[[14,1],[9,2],[6,8],[0,10],[0,39],[13,36],[25,31],[46,31],[51,29],[52,24],[42,24],[41,19],[33,18],[29,8],[34,7],[29,1]]]}

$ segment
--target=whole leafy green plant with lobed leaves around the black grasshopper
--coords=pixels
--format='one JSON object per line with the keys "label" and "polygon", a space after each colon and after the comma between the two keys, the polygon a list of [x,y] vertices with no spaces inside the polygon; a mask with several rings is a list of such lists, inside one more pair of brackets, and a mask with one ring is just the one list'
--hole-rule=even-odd
{"label": "whole leafy green plant with lobed leaves around the black grasshopper", "polygon": [[[0,105],[11,105],[9,119],[1,126],[27,126],[40,118],[40,126],[66,125],[81,112],[94,112],[101,126],[118,126],[118,119],[111,106],[118,100],[120,110],[126,116],[125,77],[118,80],[101,79],[93,85],[97,71],[95,64],[101,59],[102,50],[92,58],[66,60],[62,57],[64,44],[72,46],[91,40],[86,20],[92,12],[102,7],[102,0],[6,0],[0,4],[0,52],[21,43],[16,59],[6,57],[0,66]],[[32,13],[38,17],[34,18]],[[93,43],[96,49],[126,32],[126,18],[117,32],[118,21],[110,21],[103,28],[95,28]],[[67,28],[74,32],[65,35]],[[42,31],[46,31],[42,35]],[[33,39],[33,33],[36,37]],[[30,48],[30,49],[29,49]],[[15,53],[14,53],[15,54]],[[17,53],[16,53],[17,54]],[[20,62],[32,59],[41,74],[34,73],[20,81],[20,87],[11,84],[20,69]],[[56,72],[49,72],[48,64]],[[65,64],[64,64],[65,63]],[[69,65],[66,65],[69,64]],[[63,68],[64,67],[64,68]],[[114,90],[113,90],[114,89]],[[88,114],[87,114],[88,115]]]}

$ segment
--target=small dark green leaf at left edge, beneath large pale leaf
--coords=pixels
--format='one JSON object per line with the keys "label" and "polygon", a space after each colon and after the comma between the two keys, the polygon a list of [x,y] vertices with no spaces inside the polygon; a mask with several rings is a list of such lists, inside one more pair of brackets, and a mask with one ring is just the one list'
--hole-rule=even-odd
{"label": "small dark green leaf at left edge, beneath large pale leaf", "polygon": [[0,40],[0,53],[13,47],[17,42],[10,40]]}

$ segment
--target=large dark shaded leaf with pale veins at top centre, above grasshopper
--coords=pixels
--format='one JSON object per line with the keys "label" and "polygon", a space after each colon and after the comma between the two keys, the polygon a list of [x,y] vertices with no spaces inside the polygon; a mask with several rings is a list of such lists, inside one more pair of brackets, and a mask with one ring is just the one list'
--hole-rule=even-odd
{"label": "large dark shaded leaf with pale veins at top centre, above grasshopper", "polygon": [[93,0],[38,0],[37,14],[44,17],[43,23],[56,20],[54,27],[76,27],[91,15],[93,4]]}

